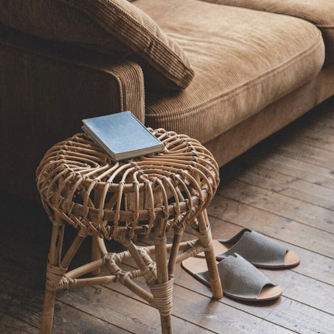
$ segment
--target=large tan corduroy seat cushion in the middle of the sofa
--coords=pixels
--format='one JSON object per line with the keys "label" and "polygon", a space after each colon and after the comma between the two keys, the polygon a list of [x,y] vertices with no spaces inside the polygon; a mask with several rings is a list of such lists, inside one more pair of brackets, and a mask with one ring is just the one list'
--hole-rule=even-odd
{"label": "large tan corduroy seat cushion in the middle of the sofa", "polygon": [[146,90],[145,123],[202,143],[310,81],[324,63],[321,33],[302,19],[196,0],[134,4],[177,40],[195,70],[186,90]]}

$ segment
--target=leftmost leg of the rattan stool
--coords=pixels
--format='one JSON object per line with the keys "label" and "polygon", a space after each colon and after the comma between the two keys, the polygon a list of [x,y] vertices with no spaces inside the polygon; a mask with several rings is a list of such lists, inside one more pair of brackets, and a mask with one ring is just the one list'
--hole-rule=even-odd
{"label": "leftmost leg of the rattan stool", "polygon": [[[61,218],[55,218],[52,222],[51,246],[49,251],[48,267],[58,266],[61,262],[61,248],[63,246],[64,223]],[[52,321],[54,319],[54,303],[56,301],[56,289],[50,284],[49,274],[45,284],[45,298],[43,304],[42,320],[40,324],[40,334],[50,334]]]}

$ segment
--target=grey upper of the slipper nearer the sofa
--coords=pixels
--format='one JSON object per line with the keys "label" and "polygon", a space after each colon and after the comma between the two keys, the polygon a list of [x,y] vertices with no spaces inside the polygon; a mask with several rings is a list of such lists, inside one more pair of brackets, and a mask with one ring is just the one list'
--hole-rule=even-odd
{"label": "grey upper of the slipper nearer the sofa", "polygon": [[248,262],[260,266],[284,266],[285,255],[289,250],[278,242],[249,228],[244,228],[229,240],[219,239],[218,241],[230,244],[235,242],[229,250],[217,256],[218,260],[238,253]]}

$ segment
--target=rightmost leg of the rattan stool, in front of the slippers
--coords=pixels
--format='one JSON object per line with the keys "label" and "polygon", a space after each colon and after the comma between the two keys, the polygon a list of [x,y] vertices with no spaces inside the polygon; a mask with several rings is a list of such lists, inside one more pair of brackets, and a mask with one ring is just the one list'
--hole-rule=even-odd
{"label": "rightmost leg of the rattan stool, in front of the slippers", "polygon": [[200,230],[198,239],[200,239],[203,246],[207,248],[205,251],[205,260],[207,260],[212,295],[216,299],[221,299],[223,297],[223,289],[221,287],[221,278],[218,274],[216,256],[214,255],[214,246],[212,244],[212,235],[211,230],[209,229],[209,218],[207,218],[206,209],[198,215],[198,227]]}

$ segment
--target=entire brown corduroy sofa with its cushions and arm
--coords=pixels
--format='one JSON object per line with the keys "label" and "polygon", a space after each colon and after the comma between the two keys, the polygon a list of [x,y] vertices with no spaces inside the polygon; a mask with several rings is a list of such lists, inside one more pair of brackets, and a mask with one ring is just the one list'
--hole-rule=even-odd
{"label": "entire brown corduroy sofa with its cushions and arm", "polygon": [[129,110],[222,166],[334,93],[332,0],[1,0],[1,189]]}

